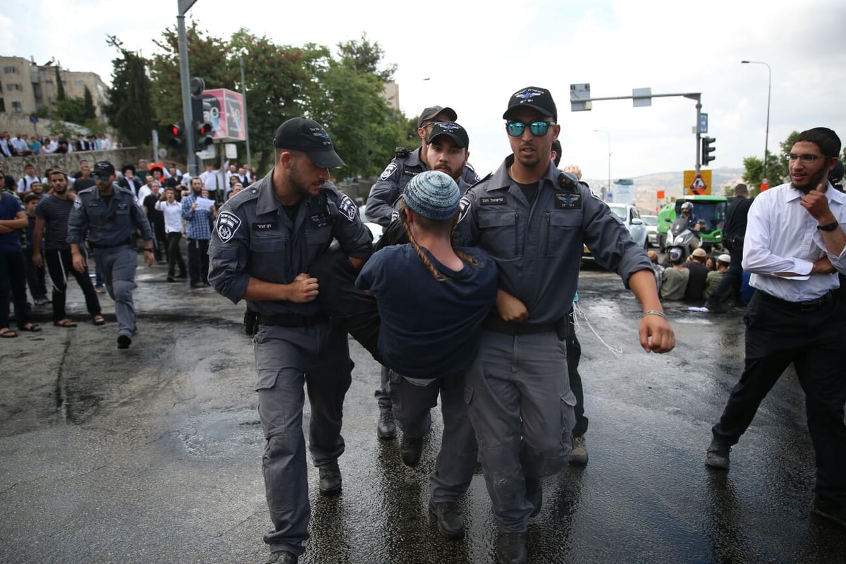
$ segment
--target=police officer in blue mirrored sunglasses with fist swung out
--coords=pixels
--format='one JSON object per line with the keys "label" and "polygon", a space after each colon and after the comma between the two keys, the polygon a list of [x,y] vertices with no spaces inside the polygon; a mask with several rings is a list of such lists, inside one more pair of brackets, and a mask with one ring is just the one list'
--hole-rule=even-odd
{"label": "police officer in blue mirrored sunglasses with fist swung out", "polygon": [[486,320],[464,397],[499,529],[497,556],[512,563],[526,561],[541,479],[563,468],[572,444],[563,341],[582,245],[640,299],[646,351],[667,352],[675,337],[645,251],[605,203],[550,161],[560,126],[549,91],[515,92],[503,118],[514,154],[464,194],[455,244],[480,247],[499,268],[497,312]]}

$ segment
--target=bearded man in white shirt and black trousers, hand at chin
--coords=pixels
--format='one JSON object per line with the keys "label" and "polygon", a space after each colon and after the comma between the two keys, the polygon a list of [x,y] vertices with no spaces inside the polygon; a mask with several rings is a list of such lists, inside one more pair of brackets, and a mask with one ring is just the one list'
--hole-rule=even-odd
{"label": "bearded man in white shirt and black trousers, hand at chin", "polygon": [[744,316],[745,368],[712,429],[706,463],[728,470],[729,450],[793,364],[816,452],[811,511],[846,528],[846,313],[832,297],[838,272],[846,273],[846,195],[827,179],[840,147],[831,129],[803,131],[788,154],[790,182],[752,202],[743,252],[755,287]]}

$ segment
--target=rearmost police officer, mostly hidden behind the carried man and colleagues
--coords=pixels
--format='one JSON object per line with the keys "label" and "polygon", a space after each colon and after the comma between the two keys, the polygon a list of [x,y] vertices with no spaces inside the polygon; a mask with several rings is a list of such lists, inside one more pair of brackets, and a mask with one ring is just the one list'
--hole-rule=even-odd
{"label": "rearmost police officer, mostly hidden behind the carried man and colleagues", "polygon": [[[437,122],[454,122],[456,118],[458,118],[458,114],[451,107],[431,106],[420,112],[420,118],[417,118],[417,134],[420,136],[421,141],[420,148],[413,151],[409,151],[405,147],[397,148],[396,156],[388,163],[385,170],[382,171],[382,175],[373,184],[370,195],[367,196],[365,216],[368,221],[378,223],[382,227],[387,227],[398,217],[395,207],[399,201],[399,196],[405,191],[405,185],[416,174],[432,168],[427,158],[432,124]],[[453,175],[450,174],[450,176]],[[467,184],[473,184],[479,181],[479,176],[467,162],[464,162],[461,178]],[[375,393],[376,402],[379,404],[379,420],[376,424],[376,435],[380,439],[393,439],[396,435],[396,425],[393,422],[391,408],[393,403],[387,392],[388,381],[388,371],[383,366],[380,386]]]}

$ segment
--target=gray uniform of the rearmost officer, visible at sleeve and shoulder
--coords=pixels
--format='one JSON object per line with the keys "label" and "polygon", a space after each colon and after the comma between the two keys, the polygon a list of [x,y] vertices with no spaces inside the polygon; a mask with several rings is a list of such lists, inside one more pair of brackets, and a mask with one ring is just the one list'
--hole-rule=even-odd
{"label": "gray uniform of the rearmost officer, visible at sleeve and shoulder", "polygon": [[[391,222],[394,205],[405,191],[405,185],[420,172],[428,170],[426,163],[420,160],[421,150],[422,147],[408,153],[398,150],[397,156],[382,171],[382,175],[371,186],[370,195],[367,196],[365,216],[368,221],[378,223],[382,227],[387,227]],[[461,178],[468,185],[479,181],[479,175],[470,165],[464,165]]]}

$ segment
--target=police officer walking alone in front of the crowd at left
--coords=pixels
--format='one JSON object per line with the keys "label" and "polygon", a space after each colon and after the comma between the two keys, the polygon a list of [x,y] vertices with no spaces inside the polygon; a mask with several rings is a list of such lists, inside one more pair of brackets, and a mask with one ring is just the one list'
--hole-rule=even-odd
{"label": "police officer walking alone in front of the crowd at left", "polygon": [[135,200],[135,194],[118,185],[111,162],[94,165],[95,186],[80,191],[68,220],[68,243],[74,269],[87,268],[80,246],[88,243],[94,249],[96,266],[106,282],[109,297],[114,300],[118,317],[118,348],[129,348],[135,335],[135,269],[138,250],[135,238],[140,230],[144,238],[144,260],[153,266],[153,244],[150,223]]}

